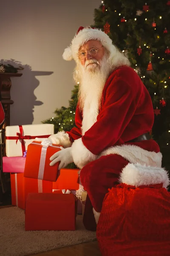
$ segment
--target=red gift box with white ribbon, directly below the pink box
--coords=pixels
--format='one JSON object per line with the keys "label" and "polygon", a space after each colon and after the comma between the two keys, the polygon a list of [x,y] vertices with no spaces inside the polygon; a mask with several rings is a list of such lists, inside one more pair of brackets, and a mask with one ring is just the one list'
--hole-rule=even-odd
{"label": "red gift box with white ribbon, directly below the pink box", "polygon": [[10,174],[10,178],[11,178],[12,205],[15,205],[21,209],[25,209],[24,174],[23,173]]}

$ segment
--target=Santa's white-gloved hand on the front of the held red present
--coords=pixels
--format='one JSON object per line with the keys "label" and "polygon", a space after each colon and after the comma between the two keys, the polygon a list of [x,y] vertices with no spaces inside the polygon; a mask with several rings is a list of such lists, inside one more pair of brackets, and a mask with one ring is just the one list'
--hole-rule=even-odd
{"label": "Santa's white-gloved hand on the front of the held red present", "polygon": [[61,150],[56,152],[54,155],[50,157],[50,166],[53,166],[55,163],[60,162],[59,164],[59,170],[67,166],[69,163],[73,163],[73,157],[72,157],[72,152],[71,152],[71,147],[70,148],[63,148],[60,147]]}

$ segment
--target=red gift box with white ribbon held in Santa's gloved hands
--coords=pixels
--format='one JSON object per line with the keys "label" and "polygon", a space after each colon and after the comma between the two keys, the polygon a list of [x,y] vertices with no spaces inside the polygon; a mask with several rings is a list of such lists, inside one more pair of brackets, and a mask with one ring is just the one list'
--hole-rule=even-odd
{"label": "red gift box with white ribbon held in Santa's gloved hands", "polygon": [[60,145],[52,144],[47,147],[42,146],[39,141],[33,141],[28,145],[24,177],[56,181],[59,162],[50,166],[50,157],[60,150]]}

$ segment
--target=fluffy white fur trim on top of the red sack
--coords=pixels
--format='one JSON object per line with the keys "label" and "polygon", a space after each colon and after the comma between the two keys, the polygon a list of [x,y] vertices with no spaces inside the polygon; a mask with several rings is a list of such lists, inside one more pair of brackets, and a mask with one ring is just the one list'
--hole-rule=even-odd
{"label": "fluffy white fur trim on top of the red sack", "polygon": [[164,188],[170,184],[168,173],[164,168],[144,166],[139,163],[127,164],[120,174],[119,182],[132,186],[163,183]]}

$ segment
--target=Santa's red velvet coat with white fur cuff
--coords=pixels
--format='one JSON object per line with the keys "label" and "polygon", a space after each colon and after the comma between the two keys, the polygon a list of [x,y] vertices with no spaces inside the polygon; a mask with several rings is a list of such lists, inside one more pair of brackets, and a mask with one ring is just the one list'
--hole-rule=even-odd
{"label": "Santa's red velvet coat with white fur cuff", "polygon": [[[123,145],[149,132],[154,121],[149,92],[137,73],[126,66],[117,68],[108,77],[102,92],[101,106],[99,110],[94,110],[94,113],[96,113],[94,122],[91,122],[88,125],[90,128],[85,131],[82,120],[85,116],[91,119],[91,116],[88,110],[84,110],[82,114],[77,106],[75,115],[77,128],[67,132],[70,141],[74,142],[72,153],[74,163],[79,168],[96,160],[100,154],[105,155],[105,150],[108,154],[108,150],[112,151],[113,146]],[[152,151],[157,153],[159,147],[156,143],[153,144]],[[160,166],[161,155],[159,157]]]}

